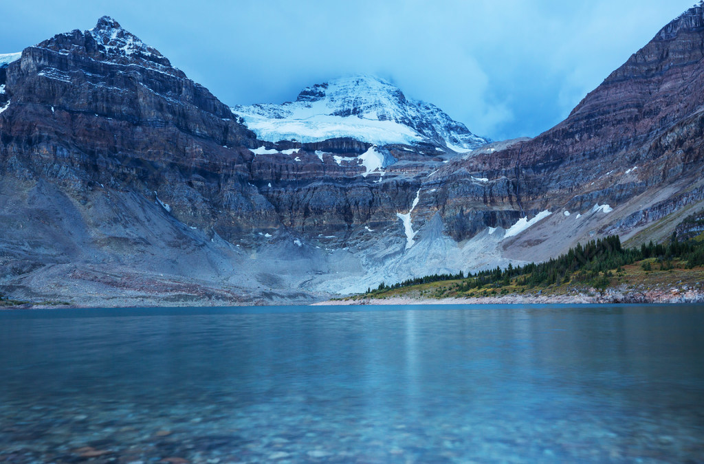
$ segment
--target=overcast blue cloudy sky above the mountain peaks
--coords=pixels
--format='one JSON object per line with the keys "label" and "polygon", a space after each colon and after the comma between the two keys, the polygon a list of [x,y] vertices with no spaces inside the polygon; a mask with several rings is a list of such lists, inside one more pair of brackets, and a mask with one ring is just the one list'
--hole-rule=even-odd
{"label": "overcast blue cloudy sky above the mountain peaks", "polygon": [[226,104],[282,103],[310,84],[368,73],[496,140],[560,122],[694,1],[3,3],[0,53],[111,15]]}

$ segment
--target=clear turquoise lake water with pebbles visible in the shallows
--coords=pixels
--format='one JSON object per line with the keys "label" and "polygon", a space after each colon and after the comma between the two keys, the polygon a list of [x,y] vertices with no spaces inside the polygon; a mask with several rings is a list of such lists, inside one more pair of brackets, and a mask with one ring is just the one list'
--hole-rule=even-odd
{"label": "clear turquoise lake water with pebbles visible in the shallows", "polygon": [[4,311],[0,462],[703,462],[703,356],[701,305]]}

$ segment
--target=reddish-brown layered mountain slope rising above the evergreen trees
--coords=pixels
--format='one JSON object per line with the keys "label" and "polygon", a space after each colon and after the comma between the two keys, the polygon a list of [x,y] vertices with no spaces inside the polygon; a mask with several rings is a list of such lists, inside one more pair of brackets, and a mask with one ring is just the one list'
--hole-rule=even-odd
{"label": "reddish-brown layered mountain slope rising above the evergreen trees", "polygon": [[[549,220],[502,250],[509,258],[529,251],[541,260],[604,234],[663,239],[687,212],[701,208],[703,18],[700,3],[663,27],[551,130],[444,166],[437,174],[444,195],[479,205],[470,211],[466,203],[445,203],[453,237],[471,237],[474,227],[467,224],[491,212],[514,211],[515,218],[549,210],[555,213]],[[466,173],[490,182],[477,191]],[[510,185],[513,194],[487,202],[499,185]],[[605,204],[609,208],[591,213]]]}

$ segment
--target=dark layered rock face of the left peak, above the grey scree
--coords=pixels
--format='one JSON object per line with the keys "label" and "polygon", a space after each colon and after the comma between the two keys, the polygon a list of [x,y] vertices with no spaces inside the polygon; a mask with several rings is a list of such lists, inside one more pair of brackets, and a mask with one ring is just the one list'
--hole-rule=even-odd
{"label": "dark layered rock face of the left peak, above the grey scree", "polygon": [[[243,188],[254,134],[113,20],[25,49],[5,84],[4,174],[51,179],[76,198],[94,189],[168,197],[175,216],[201,228],[270,221]],[[222,196],[252,203],[249,213],[215,214]]]}

